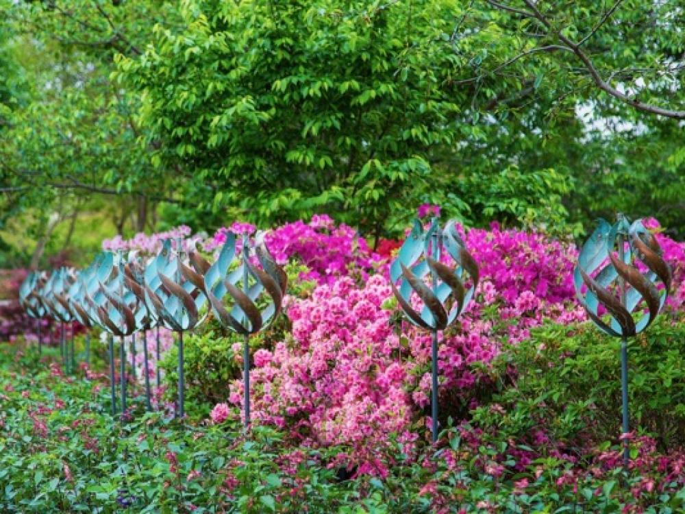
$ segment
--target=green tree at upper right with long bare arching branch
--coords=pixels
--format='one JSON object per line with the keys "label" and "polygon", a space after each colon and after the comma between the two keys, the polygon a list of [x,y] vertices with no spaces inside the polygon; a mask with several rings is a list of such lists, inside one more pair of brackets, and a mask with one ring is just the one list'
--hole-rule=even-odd
{"label": "green tree at upper right with long bare arching branch", "polygon": [[500,99],[528,101],[526,115],[540,136],[508,155],[521,169],[545,156],[574,178],[564,196],[573,219],[655,215],[685,235],[684,9],[682,0],[484,0],[469,12],[476,25],[494,23],[511,36],[508,53],[488,53],[466,79],[507,85],[486,93],[480,109],[495,99],[511,114]]}

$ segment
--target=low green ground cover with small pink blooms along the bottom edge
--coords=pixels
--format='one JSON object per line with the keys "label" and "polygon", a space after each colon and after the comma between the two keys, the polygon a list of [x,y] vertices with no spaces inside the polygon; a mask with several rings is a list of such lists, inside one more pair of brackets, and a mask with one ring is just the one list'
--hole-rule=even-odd
{"label": "low green ground cover with small pink blooms along the bottom edge", "polygon": [[[498,480],[481,463],[508,443],[472,452],[451,427],[437,452],[408,461],[398,449],[384,478],[343,480],[329,469],[343,448],[293,452],[284,434],[271,428],[255,426],[245,437],[233,423],[182,428],[160,413],[139,412],[121,422],[108,414],[104,384],[52,376],[33,350],[21,356],[14,350],[0,350],[3,513],[419,514],[442,505],[449,513],[492,506],[512,514],[608,514],[636,504],[632,488],[643,481],[615,471],[603,478],[584,474],[577,489],[560,486],[569,465],[555,458],[534,461],[541,473]],[[447,452],[456,456],[455,467],[447,465]],[[514,483],[521,477],[529,479],[524,489]],[[653,491],[640,502],[645,513],[675,513],[684,508],[685,493]]]}

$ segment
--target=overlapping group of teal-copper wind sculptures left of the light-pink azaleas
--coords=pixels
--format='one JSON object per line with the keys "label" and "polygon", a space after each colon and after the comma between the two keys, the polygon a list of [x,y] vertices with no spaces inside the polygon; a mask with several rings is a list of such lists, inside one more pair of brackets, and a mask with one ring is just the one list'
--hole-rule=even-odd
{"label": "overlapping group of teal-copper wind sculptures left of the light-pink azaleas", "polygon": [[[142,332],[146,408],[151,409],[147,332],[157,328],[156,357],[160,357],[159,328],[177,332],[178,399],[175,415],[185,415],[184,332],[193,330],[212,310],[228,330],[245,336],[245,426],[250,422],[249,336],[267,328],[282,309],[286,273],[264,243],[264,234],[242,237],[240,254],[236,235],[229,233],[219,257],[210,265],[198,252],[183,252],[181,241],[162,243],[160,252],[147,260],[136,252],[104,252],[82,271],[61,268],[48,277],[29,273],[20,289],[20,302],[30,317],[77,321],[86,330],[99,327],[109,334],[112,415],[116,415],[114,337],[120,339],[121,412],[127,408],[125,338]],[[266,306],[258,308],[257,303]],[[39,336],[40,341],[40,336]],[[90,341],[90,339],[88,339]],[[40,343],[39,343],[40,345]],[[73,335],[71,353],[64,344],[65,367],[75,368]],[[132,348],[135,348],[132,345]],[[88,352],[86,352],[88,353]],[[70,364],[71,363],[71,364]],[[159,369],[157,385],[160,385]]]}

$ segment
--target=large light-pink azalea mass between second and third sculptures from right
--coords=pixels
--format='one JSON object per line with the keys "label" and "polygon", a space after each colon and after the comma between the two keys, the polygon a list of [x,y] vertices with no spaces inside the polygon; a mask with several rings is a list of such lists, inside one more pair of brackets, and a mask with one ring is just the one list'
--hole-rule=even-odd
{"label": "large light-pink azalea mass between second and third sculptures from right", "polygon": [[[291,302],[292,336],[255,354],[256,419],[324,445],[410,437],[411,378],[395,355],[390,311],[381,308],[388,295],[388,283],[375,275],[363,289],[340,278]],[[230,390],[229,401],[241,405],[242,382]]]}

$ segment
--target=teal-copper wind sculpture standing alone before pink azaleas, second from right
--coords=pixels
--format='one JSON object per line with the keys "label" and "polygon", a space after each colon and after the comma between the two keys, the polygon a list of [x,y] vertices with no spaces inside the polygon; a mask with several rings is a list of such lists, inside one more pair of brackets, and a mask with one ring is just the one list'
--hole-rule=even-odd
{"label": "teal-copper wind sculpture standing alone before pink azaleas, second from right", "polygon": [[[441,262],[443,251],[456,263],[450,267]],[[464,271],[470,280],[464,284]],[[427,280],[430,279],[430,286]],[[434,217],[427,230],[421,221],[403,243],[390,265],[390,285],[408,320],[433,334],[431,346],[431,417],[432,440],[438,440],[438,332],[454,323],[471,302],[478,284],[478,267],[464,245],[455,221],[440,228]],[[416,297],[413,297],[416,295]],[[423,303],[421,312],[414,308]]]}

